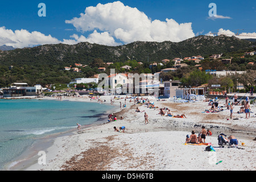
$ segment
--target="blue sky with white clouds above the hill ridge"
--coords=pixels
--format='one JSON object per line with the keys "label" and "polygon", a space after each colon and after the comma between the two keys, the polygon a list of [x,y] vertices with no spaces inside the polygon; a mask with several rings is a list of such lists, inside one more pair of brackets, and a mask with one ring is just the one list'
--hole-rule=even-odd
{"label": "blue sky with white clouds above the hill ridge", "polygon": [[[75,44],[83,40],[115,46],[134,40],[162,42],[164,36],[166,40],[179,42],[191,38],[193,34],[205,35],[209,32],[218,32],[220,29],[228,33],[237,33],[237,29],[240,29],[239,33],[256,32],[256,4],[253,0],[125,0],[120,1],[118,6],[110,7],[113,12],[116,12],[115,15],[112,14],[112,18],[107,18],[109,15],[105,11],[106,7],[97,8],[96,14],[85,13],[87,7],[92,6],[96,10],[98,3],[106,5],[113,2],[116,1],[2,1],[0,3],[0,27],[2,27],[0,28],[0,46],[6,43],[22,48],[45,43]],[[38,16],[39,3],[46,4],[46,17]],[[216,4],[218,18],[209,18],[210,3]],[[127,13],[119,16],[117,7],[126,7]],[[131,11],[130,14],[129,11]],[[81,13],[85,15],[86,20],[80,17]],[[100,16],[101,13],[105,14]],[[133,15],[138,17],[129,19]],[[116,22],[115,17],[119,18]],[[148,22],[147,18],[151,22]],[[167,23],[166,19],[174,21]],[[66,20],[70,22],[67,23]],[[147,28],[143,30],[140,26],[145,20],[147,23],[143,26]],[[90,28],[86,27],[86,24],[91,23]],[[181,26],[183,23],[185,25]],[[15,30],[26,30],[26,32],[15,32]],[[163,36],[159,38],[161,31]],[[39,32],[40,35],[32,32]],[[142,35],[145,36],[142,38]],[[64,42],[64,40],[67,41]]]}

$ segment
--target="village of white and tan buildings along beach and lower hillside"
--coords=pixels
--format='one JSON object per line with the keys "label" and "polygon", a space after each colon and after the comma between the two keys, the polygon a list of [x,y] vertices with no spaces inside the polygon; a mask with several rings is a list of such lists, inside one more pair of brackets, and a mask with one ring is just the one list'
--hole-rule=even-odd
{"label": "village of white and tan buildings along beach and lower hillside", "polygon": [[[244,58],[246,55],[254,56],[256,55],[256,51],[253,52],[245,52],[241,58]],[[217,60],[223,64],[231,64],[233,57],[230,59],[222,59],[222,55],[211,55],[209,56],[210,60]],[[154,94],[152,91],[158,90],[158,96],[162,96],[163,98],[185,98],[188,99],[189,94],[195,95],[224,95],[226,93],[231,93],[230,90],[227,90],[227,86],[222,86],[220,84],[209,85],[207,83],[203,83],[197,86],[184,86],[181,85],[181,81],[179,80],[163,80],[162,73],[170,73],[176,72],[177,69],[188,67],[188,64],[191,64],[192,67],[195,67],[198,71],[202,71],[202,67],[200,61],[204,60],[203,56],[191,56],[191,57],[175,57],[172,60],[164,59],[161,61],[155,61],[150,63],[149,69],[155,67],[162,67],[163,65],[167,65],[172,62],[171,68],[160,69],[159,72],[152,73],[141,73],[138,76],[137,80],[135,80],[134,75],[136,72],[131,72],[130,65],[123,65],[121,67],[121,71],[119,73],[110,73],[108,76],[101,76],[101,73],[106,73],[106,69],[113,65],[114,63],[103,63],[101,65],[106,65],[106,67],[98,67],[99,74],[93,75],[89,78],[75,78],[71,80],[71,82],[67,83],[67,88],[58,90],[55,89],[55,85],[52,84],[49,87],[43,88],[42,85],[28,85],[27,83],[14,82],[10,85],[9,88],[1,88],[0,97],[8,98],[8,97],[22,97],[22,96],[40,96],[46,92],[75,92],[77,95],[94,93],[97,95],[118,95],[123,93],[128,93],[133,96],[148,96]],[[142,65],[142,62],[137,62],[134,60],[137,65]],[[129,64],[129,60],[127,61]],[[186,64],[188,63],[188,64]],[[247,63],[248,65],[254,65],[254,62]],[[75,63],[72,67],[65,67],[64,71],[72,71],[80,73],[81,68],[88,67],[88,65],[82,65],[81,63]],[[12,69],[12,66],[10,66]],[[134,68],[136,69],[136,67]],[[215,75],[217,77],[225,77],[230,75],[242,75],[246,73],[246,71],[216,71],[213,69],[205,70],[205,74]],[[102,81],[103,80],[103,81]],[[101,83],[101,88],[96,87]],[[83,84],[90,84],[90,86]],[[82,86],[81,86],[82,85]],[[242,83],[236,83],[236,89],[240,91],[244,90],[245,87]],[[80,86],[80,87],[79,87]],[[230,89],[230,88],[229,88]]]}

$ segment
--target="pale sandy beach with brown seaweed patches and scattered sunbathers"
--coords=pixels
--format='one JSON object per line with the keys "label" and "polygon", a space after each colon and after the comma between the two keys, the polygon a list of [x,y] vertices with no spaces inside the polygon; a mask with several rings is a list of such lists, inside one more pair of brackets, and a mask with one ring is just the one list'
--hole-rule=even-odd
{"label": "pale sandy beach with brown seaweed patches and scattered sunbathers", "polygon": [[[101,96],[110,104],[114,96]],[[126,96],[115,100],[123,105]],[[139,97],[141,98],[141,97]],[[82,132],[72,132],[69,135],[55,139],[46,150],[46,164],[39,165],[37,161],[25,170],[255,170],[256,141],[256,107],[251,107],[249,119],[245,114],[237,114],[240,106],[234,107],[233,118],[229,119],[230,111],[223,107],[218,113],[205,113],[209,109],[208,102],[176,103],[171,101],[156,101],[148,98],[159,109],[168,107],[175,115],[185,114],[187,118],[172,118],[160,116],[159,109],[150,109],[142,104],[134,105],[134,100],[126,99],[126,107],[117,110],[118,120],[83,129]],[[42,98],[53,99],[53,98]],[[56,99],[56,98],[55,98]],[[63,98],[70,101],[90,101],[89,98]],[[219,106],[224,106],[224,100]],[[135,112],[139,107],[141,113]],[[144,112],[148,114],[148,124],[144,122]],[[120,117],[125,117],[120,119]],[[206,146],[184,145],[185,136],[192,130],[200,133],[201,126],[213,132],[206,142],[216,147],[216,152],[204,151]],[[113,127],[125,126],[125,133],[114,132]],[[217,148],[217,136],[220,133],[232,134],[238,138],[238,148]],[[241,143],[246,146],[241,146]],[[37,156],[39,158],[39,156]],[[222,163],[215,163],[222,160]]]}

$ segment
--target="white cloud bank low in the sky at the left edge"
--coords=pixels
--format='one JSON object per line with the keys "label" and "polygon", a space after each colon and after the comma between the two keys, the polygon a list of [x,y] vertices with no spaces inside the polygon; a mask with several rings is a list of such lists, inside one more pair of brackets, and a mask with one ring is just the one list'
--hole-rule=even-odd
{"label": "white cloud bank low in the sky at the left edge", "polygon": [[27,30],[8,30],[0,27],[0,46],[13,46],[15,48],[33,47],[42,44],[57,44],[59,40],[51,35],[44,35],[41,32]]}

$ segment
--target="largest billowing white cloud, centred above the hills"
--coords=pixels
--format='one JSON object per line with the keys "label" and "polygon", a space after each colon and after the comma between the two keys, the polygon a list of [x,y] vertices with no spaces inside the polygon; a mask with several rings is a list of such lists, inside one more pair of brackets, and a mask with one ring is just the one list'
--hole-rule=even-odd
{"label": "largest billowing white cloud, centred above the hills", "polygon": [[[117,39],[123,43],[134,41],[170,40],[180,42],[195,36],[192,23],[177,23],[174,19],[166,21],[151,20],[137,8],[123,5],[122,2],[113,2],[96,7],[90,6],[81,13],[79,18],[66,20],[65,23],[73,24],[77,31],[86,32],[100,30],[108,32],[109,38]],[[94,39],[104,36],[93,32]],[[106,35],[107,36],[107,35]],[[88,38],[90,39],[90,37]],[[111,44],[117,44],[110,41]]]}

